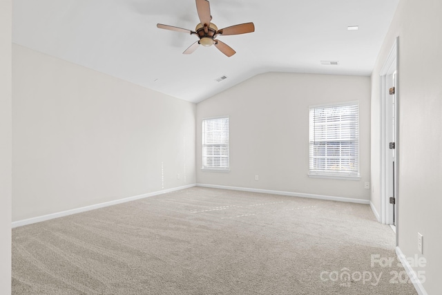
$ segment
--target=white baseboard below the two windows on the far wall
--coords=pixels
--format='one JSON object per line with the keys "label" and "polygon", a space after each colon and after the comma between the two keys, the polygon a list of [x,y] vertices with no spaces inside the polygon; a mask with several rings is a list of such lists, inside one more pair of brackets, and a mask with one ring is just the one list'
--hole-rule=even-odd
{"label": "white baseboard below the two windows on the far wall", "polygon": [[197,183],[197,187],[209,187],[213,189],[231,189],[233,191],[251,191],[253,193],[271,193],[273,195],[282,195],[282,196],[291,196],[291,197],[300,197],[300,198],[310,198],[310,199],[320,199],[320,200],[330,200],[330,201],[338,201],[338,202],[352,202],[358,204],[369,204],[369,200],[361,200],[361,199],[353,199],[353,198],[343,198],[343,197],[334,197],[334,196],[323,196],[323,195],[314,195],[311,193],[294,193],[291,191],[271,191],[269,189],[250,189],[247,187],[227,187],[224,185],[216,185],[216,184],[202,184]]}

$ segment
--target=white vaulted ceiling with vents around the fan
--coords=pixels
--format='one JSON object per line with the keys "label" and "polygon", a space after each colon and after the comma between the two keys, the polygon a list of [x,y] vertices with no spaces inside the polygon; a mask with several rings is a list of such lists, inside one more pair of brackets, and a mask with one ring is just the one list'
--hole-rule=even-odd
{"label": "white vaulted ceiling with vents around the fan", "polygon": [[[194,35],[195,0],[13,0],[12,39],[47,55],[189,102],[269,71],[371,75],[399,0],[211,0],[218,28],[253,21],[255,32],[220,36],[182,52]],[[359,26],[359,30],[347,30]],[[323,66],[320,61],[339,61]],[[222,82],[215,79],[226,75]]]}

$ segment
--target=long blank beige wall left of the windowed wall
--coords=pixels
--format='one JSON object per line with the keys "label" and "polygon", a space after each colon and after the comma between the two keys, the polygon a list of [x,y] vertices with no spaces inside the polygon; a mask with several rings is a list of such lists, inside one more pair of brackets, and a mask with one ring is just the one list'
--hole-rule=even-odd
{"label": "long blank beige wall left of the windowed wall", "polygon": [[12,59],[13,221],[195,184],[195,104],[18,45]]}

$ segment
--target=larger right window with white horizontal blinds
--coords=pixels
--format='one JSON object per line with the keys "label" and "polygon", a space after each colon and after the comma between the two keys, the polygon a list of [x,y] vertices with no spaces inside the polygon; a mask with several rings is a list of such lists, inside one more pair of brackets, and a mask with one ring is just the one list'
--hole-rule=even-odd
{"label": "larger right window with white horizontal blinds", "polygon": [[312,106],[309,125],[309,175],[358,178],[358,102]]}

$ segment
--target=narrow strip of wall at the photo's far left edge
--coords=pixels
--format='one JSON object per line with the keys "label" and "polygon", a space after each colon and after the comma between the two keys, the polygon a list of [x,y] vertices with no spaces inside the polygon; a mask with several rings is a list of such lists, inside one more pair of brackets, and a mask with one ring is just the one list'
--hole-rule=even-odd
{"label": "narrow strip of wall at the photo's far left edge", "polygon": [[12,2],[0,1],[0,290],[11,292],[11,23]]}

